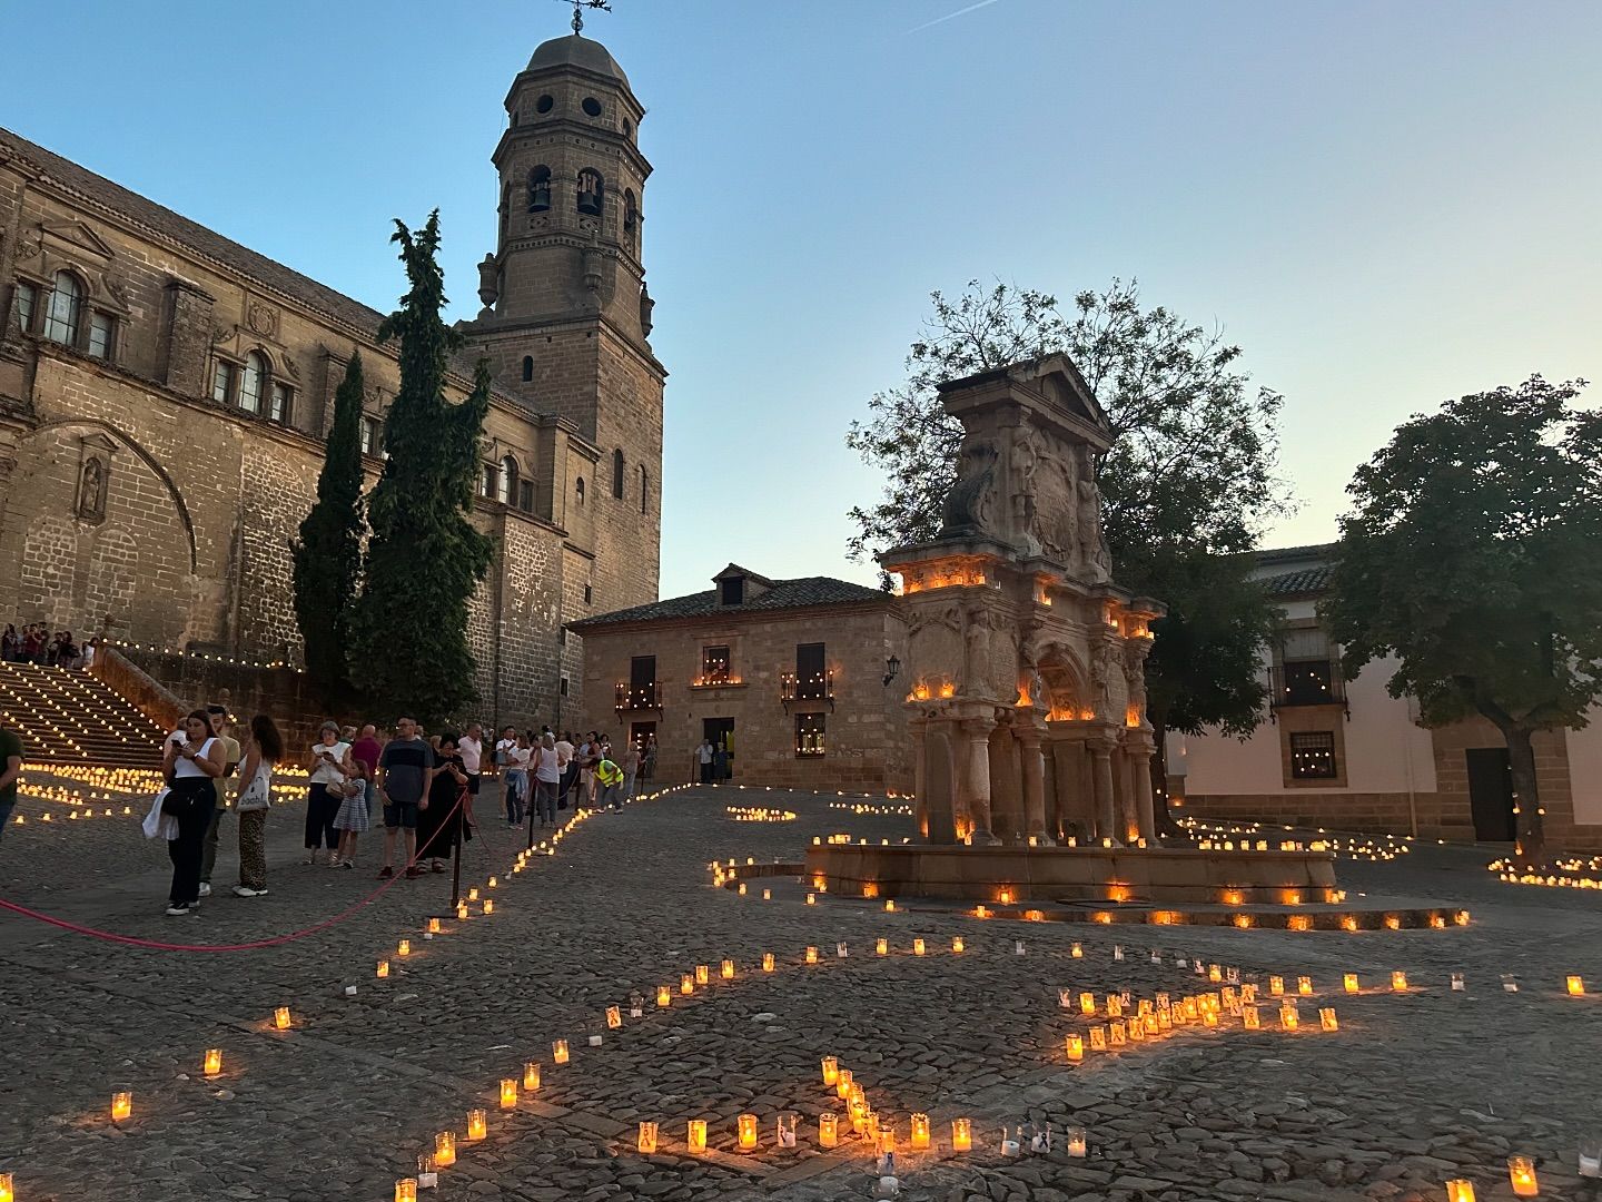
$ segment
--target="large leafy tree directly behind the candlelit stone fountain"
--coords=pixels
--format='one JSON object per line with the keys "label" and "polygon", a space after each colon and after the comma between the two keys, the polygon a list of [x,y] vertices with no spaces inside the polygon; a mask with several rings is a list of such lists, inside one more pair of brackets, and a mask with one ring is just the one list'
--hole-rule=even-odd
{"label": "large leafy tree directly behind the candlelit stone fountain", "polygon": [[1219,333],[1161,306],[1144,309],[1134,280],[1078,293],[1072,314],[1049,293],[1006,284],[969,282],[955,300],[940,292],[931,300],[905,383],[873,396],[870,420],[854,422],[846,436],[886,474],[879,503],[851,510],[849,551],[860,559],[936,537],[963,439],[937,383],[1065,353],[1115,439],[1097,465],[1115,579],[1169,607],[1153,625],[1145,668],[1153,776],[1166,798],[1168,729],[1219,726],[1245,736],[1262,716],[1259,652],[1277,612],[1248,580],[1245,553],[1285,510],[1274,476],[1280,396],[1250,386],[1240,348]]}

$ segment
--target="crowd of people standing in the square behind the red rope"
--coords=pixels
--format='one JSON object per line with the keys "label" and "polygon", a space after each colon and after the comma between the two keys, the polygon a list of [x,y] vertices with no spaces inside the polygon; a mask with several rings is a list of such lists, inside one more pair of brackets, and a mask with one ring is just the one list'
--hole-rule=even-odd
{"label": "crowd of people standing in the square behind the red rope", "polygon": [[[194,914],[211,894],[211,872],[227,787],[239,779],[234,809],[239,813],[240,897],[268,893],[266,816],[272,776],[292,760],[284,737],[268,715],[248,724],[240,744],[223,705],[208,705],[184,718],[167,736],[162,752],[165,789],[152,805],[146,830],[163,835],[173,862],[167,914]],[[3,750],[3,748],[0,748]],[[306,864],[354,869],[357,843],[375,821],[383,824],[383,865],[378,877],[397,872],[396,853],[404,849],[399,872],[421,877],[445,872],[460,841],[477,827],[474,798],[485,776],[501,779],[501,806],[508,825],[535,819],[556,825],[556,811],[569,806],[617,809],[649,784],[657,768],[657,740],[625,742],[614,753],[598,732],[557,734],[551,728],[517,731],[508,726],[490,750],[484,728],[468,723],[463,731],[425,736],[413,718],[400,718],[394,734],[381,737],[376,724],[340,728],[322,724],[306,753]]]}

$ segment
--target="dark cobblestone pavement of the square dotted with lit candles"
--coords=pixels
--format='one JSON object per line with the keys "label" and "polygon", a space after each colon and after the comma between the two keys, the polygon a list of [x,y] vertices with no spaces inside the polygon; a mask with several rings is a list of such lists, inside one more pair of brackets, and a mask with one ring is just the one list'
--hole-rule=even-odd
{"label": "dark cobblestone pavement of the square dotted with lit candles", "polygon": [[[798,861],[817,835],[910,833],[908,817],[844,813],[833,797],[681,790],[578,824],[557,854],[516,875],[519,837],[495,827],[492,800],[479,803],[463,881],[495,912],[450,917],[431,941],[423,928],[447,914],[449,877],[400,881],[328,930],[250,952],[159,952],[0,918],[0,1172],[14,1173],[16,1202],[386,1202],[434,1133],[461,1138],[474,1107],[487,1111],[487,1138],[460,1146],[425,1202],[868,1197],[873,1157],[860,1141],[819,1148],[817,1115],[841,1107],[822,1087],[825,1055],[897,1120],[902,1144],[907,1115],[931,1115],[936,1149],[897,1157],[905,1199],[1439,1202],[1453,1176],[1503,1199],[1509,1152],[1536,1159],[1541,1197],[1591,1197],[1576,1148],[1602,1130],[1602,897],[1499,885],[1485,853],[1424,848],[1341,865],[1354,893],[1466,906],[1474,922],[1461,930],[1070,926],[833,897],[807,906],[804,886],[782,877],[753,880],[745,896],[711,888],[714,857]],[[737,822],[731,805],[798,819]],[[223,896],[171,920],[160,914],[165,848],[143,840],[136,819],[64,822],[56,806],[43,824],[43,808],[24,801],[26,824],[0,840],[0,893],[130,936],[248,942],[328,918],[378,885],[376,835],[364,837],[359,872],[306,867],[300,806],[284,806],[269,819],[271,894],[226,894],[237,862],[229,817]],[[888,955],[875,950],[881,936]],[[412,939],[405,960],[399,938]],[[915,938],[926,955],[913,955]],[[807,946],[817,965],[804,962]],[[761,971],[764,952],[772,973]],[[380,981],[384,957],[392,971]],[[1064,1010],[1059,989],[1219,989],[1177,957],[1237,966],[1264,995],[1270,974],[1291,989],[1307,974],[1317,995],[1302,1000],[1294,1034],[1264,1005],[1261,1031],[1226,1016],[1216,1031],[1182,1027],[1067,1063],[1064,1037],[1105,1019]],[[732,981],[719,979],[724,958]],[[711,982],[682,997],[679,978],[695,965]],[[1408,974],[1405,994],[1391,992],[1395,970]],[[1362,994],[1341,990],[1347,971]],[[1451,973],[1464,990],[1451,990]],[[1519,992],[1504,992],[1503,974]],[[1568,974],[1594,992],[1567,995]],[[644,997],[639,1019],[631,994]],[[293,1027],[272,1031],[285,1005]],[[609,1005],[623,1011],[617,1031]],[[1318,1031],[1326,1005],[1338,1032]],[[556,1039],[569,1043],[566,1064],[553,1063]],[[200,1058],[213,1047],[224,1066],[207,1080]],[[538,1091],[498,1109],[497,1083],[521,1079],[525,1061],[540,1063]],[[133,1093],[120,1123],[109,1117],[114,1090]],[[759,1120],[751,1154],[734,1138],[745,1112]],[[795,1149],[774,1146],[783,1112],[799,1115]],[[958,1115],[974,1122],[971,1154],[950,1151]],[[687,1154],[690,1119],[708,1123],[705,1156]],[[658,1154],[634,1149],[639,1120],[660,1123]],[[1003,1123],[1024,1120],[1053,1123],[1057,1146],[1003,1157]],[[1088,1130],[1088,1157],[1065,1156],[1069,1125]]]}

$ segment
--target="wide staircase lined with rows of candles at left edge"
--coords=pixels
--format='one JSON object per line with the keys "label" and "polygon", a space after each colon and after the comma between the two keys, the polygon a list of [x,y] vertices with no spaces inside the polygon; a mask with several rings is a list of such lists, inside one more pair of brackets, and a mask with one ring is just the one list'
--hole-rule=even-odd
{"label": "wide staircase lined with rows of candles at left edge", "polygon": [[38,764],[160,768],[160,726],[87,672],[0,664],[0,723]]}

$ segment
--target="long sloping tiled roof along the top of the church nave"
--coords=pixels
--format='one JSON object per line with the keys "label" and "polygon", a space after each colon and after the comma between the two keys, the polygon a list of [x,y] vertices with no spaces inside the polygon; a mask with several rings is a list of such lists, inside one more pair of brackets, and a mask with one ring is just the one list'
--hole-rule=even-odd
{"label": "long sloping tiled roof along the top of the church nave", "polygon": [[[66,191],[75,192],[104,208],[112,210],[114,213],[120,213],[135,224],[144,226],[154,234],[187,247],[189,250],[199,253],[200,258],[211,260],[223,268],[248,276],[274,292],[300,301],[316,313],[348,325],[354,325],[367,333],[368,338],[376,335],[378,324],[386,316],[378,313],[378,309],[362,305],[359,300],[346,296],[343,292],[335,292],[327,284],[319,284],[309,276],[303,276],[292,268],[285,268],[277,260],[271,260],[250,247],[244,247],[232,239],[223,237],[215,229],[207,229],[197,221],[191,221],[189,218],[175,213],[171,208],[165,208],[149,197],[130,192],[122,184],[115,184],[101,175],[95,175],[95,171],[80,167],[70,159],[62,159],[59,154],[46,151],[37,143],[27,141],[27,138],[22,138],[6,128],[0,128],[0,157],[5,157],[6,154],[18,155],[34,163],[43,170],[48,179]],[[383,248],[388,237],[389,231],[375,231],[375,247]],[[452,367],[461,375],[473,378],[474,362],[476,356],[468,351],[465,354],[457,354]],[[501,396],[505,396],[505,393],[501,393]]]}

